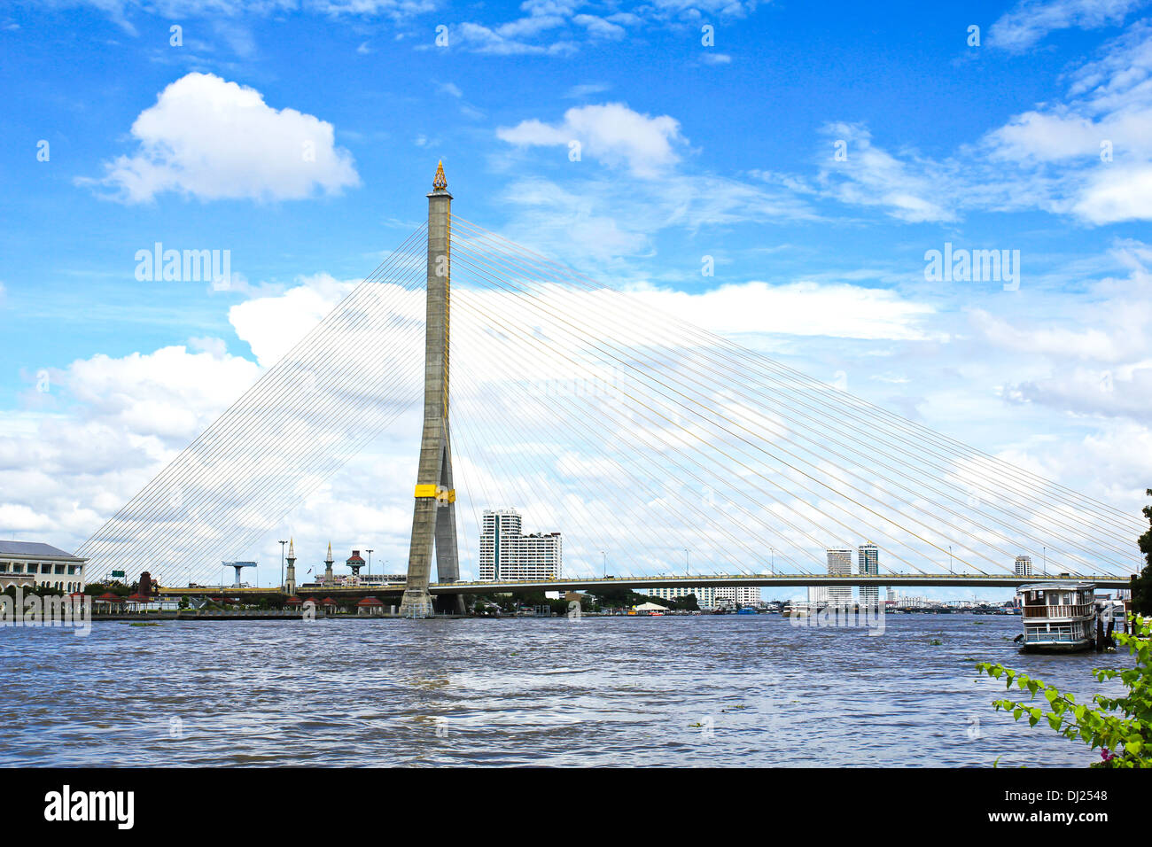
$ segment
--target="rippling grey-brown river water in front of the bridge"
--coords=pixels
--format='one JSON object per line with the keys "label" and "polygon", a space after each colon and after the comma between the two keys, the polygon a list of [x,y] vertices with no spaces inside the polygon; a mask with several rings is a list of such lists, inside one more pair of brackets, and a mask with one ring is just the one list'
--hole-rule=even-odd
{"label": "rippling grey-brown river water in front of the bridge", "polygon": [[[97,622],[0,629],[0,765],[1085,765],[994,712],[1001,661],[1083,702],[1126,655],[1020,619],[778,615]],[[940,642],[933,644],[933,642]]]}

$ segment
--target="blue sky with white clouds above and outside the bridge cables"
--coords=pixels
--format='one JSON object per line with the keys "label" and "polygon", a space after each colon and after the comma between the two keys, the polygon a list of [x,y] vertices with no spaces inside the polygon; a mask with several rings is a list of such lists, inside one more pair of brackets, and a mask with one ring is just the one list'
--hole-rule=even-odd
{"label": "blue sky with white clouds above and outside the bridge cables", "polygon": [[[311,312],[252,316],[301,289],[334,302],[420,221],[440,158],[463,217],[614,286],[697,295],[708,328],[1135,512],[1149,7],[9,5],[0,536],[93,531]],[[297,136],[317,142],[304,176],[278,158]],[[157,241],[230,250],[241,285],[137,281]],[[1018,250],[1018,290],[926,280],[945,242]],[[746,313],[708,307],[725,286]]]}

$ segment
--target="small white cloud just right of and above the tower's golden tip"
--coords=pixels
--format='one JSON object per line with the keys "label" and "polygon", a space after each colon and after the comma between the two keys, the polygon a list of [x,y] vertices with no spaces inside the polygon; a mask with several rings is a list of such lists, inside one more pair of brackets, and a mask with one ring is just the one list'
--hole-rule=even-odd
{"label": "small white cloud just right of and above the tower's golden tip", "polygon": [[622,103],[577,106],[564,112],[560,123],[532,119],[501,127],[497,136],[517,146],[568,146],[577,141],[582,157],[627,166],[634,175],[645,179],[658,176],[679,161],[675,148],[685,142],[674,118],[651,118]]}

